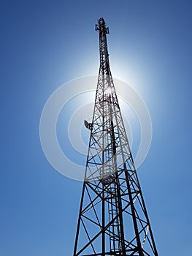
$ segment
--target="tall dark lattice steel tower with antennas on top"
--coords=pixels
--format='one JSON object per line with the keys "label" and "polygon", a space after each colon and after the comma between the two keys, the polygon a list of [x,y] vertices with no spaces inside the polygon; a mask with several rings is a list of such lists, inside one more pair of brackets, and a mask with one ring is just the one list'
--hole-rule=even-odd
{"label": "tall dark lattice steel tower with antennas on top", "polygon": [[99,31],[100,68],[90,129],[85,181],[74,243],[77,255],[158,255],[128,145],[107,50],[109,29]]}

